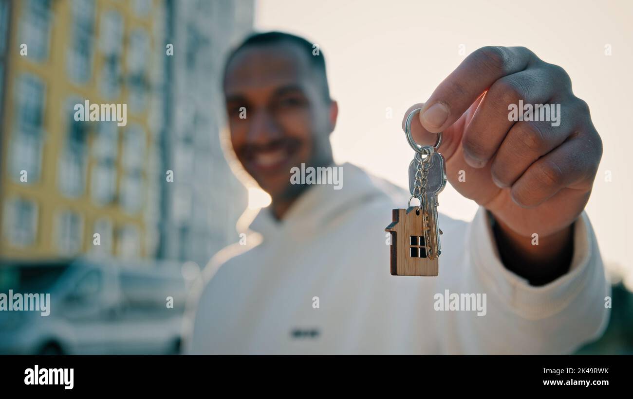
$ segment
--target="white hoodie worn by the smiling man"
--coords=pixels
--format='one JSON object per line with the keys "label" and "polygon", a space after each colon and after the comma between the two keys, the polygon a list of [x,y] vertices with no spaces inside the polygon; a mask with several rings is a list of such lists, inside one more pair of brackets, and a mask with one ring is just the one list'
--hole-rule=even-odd
{"label": "white hoodie worn by the smiling man", "polygon": [[[342,189],[311,187],[282,222],[260,211],[248,245],[211,259],[189,354],[567,354],[603,332],[610,286],[585,213],[570,270],[541,287],[501,264],[482,208],[470,223],[439,216],[439,277],[392,276],[384,229],[408,193],[342,167]],[[456,311],[453,294],[486,295]]]}

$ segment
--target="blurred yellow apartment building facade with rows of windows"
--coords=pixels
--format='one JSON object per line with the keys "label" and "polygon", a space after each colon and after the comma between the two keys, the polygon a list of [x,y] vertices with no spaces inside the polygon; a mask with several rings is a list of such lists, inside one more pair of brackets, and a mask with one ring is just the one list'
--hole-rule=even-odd
{"label": "blurred yellow apartment building facade with rows of windows", "polygon": [[[162,12],[153,0],[0,0],[4,258],[153,256]],[[127,124],[75,121],[85,100],[127,104]]]}

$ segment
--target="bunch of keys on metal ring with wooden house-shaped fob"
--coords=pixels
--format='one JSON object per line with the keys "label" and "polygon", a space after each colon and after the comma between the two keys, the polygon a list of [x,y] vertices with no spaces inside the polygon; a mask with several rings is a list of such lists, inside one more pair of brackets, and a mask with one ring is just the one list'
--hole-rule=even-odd
{"label": "bunch of keys on metal ring with wooden house-shaped fob", "polygon": [[[442,253],[437,223],[437,194],[446,186],[444,157],[437,152],[442,133],[437,134],[434,146],[420,146],[411,136],[411,120],[420,108],[406,118],[404,133],[415,157],[409,165],[408,208],[394,209],[392,223],[385,229],[391,232],[391,274],[395,276],[437,276]],[[419,205],[411,206],[417,198]]]}

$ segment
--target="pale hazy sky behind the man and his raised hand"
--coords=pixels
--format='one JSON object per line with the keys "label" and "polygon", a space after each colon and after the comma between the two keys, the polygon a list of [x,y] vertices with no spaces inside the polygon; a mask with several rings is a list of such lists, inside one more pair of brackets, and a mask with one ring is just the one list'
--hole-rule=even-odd
{"label": "pale hazy sky behind the man and his raised hand", "polygon": [[[625,266],[633,287],[633,79],[630,1],[260,0],[258,30],[285,30],[318,44],[339,119],[337,162],[352,162],[403,187],[413,157],[400,123],[466,55],[484,45],[523,45],[570,74],[586,100],[604,154],[587,213],[610,268]],[[611,56],[605,55],[610,45]],[[387,118],[387,108],[393,110]],[[605,181],[608,171],[610,182]],[[450,185],[439,211],[470,220],[477,205]],[[405,204],[403,204],[405,206]],[[389,210],[387,210],[389,213]]]}

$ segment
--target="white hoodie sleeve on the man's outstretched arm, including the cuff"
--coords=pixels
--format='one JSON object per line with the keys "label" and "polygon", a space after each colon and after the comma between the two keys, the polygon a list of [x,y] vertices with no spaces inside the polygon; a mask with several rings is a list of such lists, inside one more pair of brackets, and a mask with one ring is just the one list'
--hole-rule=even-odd
{"label": "white hoodie sleeve on the man's outstretched arm, including the cuff", "polygon": [[[482,312],[447,312],[442,352],[449,354],[570,354],[606,328],[611,295],[596,237],[582,213],[574,225],[570,270],[540,287],[501,263],[486,210],[465,234],[460,275],[451,290],[486,294]],[[483,295],[482,295],[483,296]]]}

